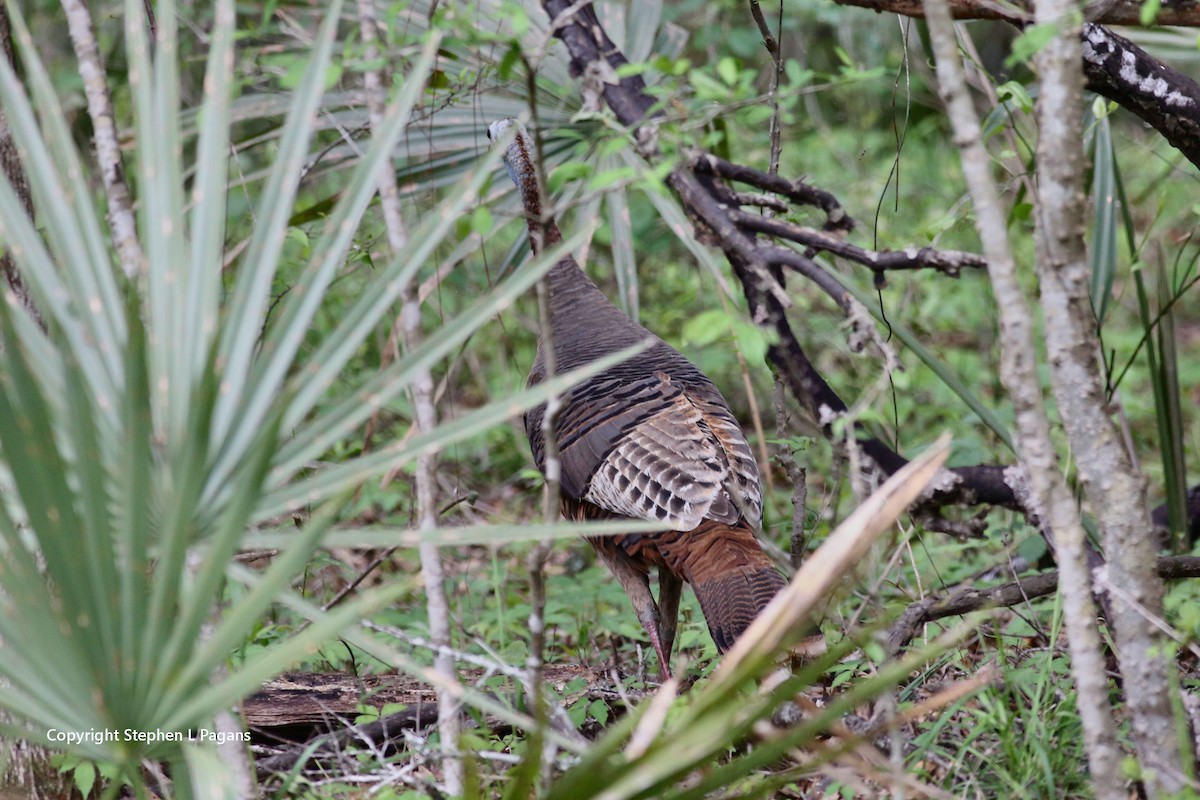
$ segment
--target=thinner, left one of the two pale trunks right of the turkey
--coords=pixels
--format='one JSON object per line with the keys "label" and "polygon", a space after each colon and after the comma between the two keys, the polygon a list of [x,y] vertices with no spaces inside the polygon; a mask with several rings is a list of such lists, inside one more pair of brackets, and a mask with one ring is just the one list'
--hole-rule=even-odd
{"label": "thinner, left one of the two pale trunks right of the turkey", "polygon": [[[988,273],[1000,309],[1000,372],[1013,398],[1021,465],[1032,494],[1032,506],[1054,533],[1058,560],[1063,616],[1070,648],[1072,672],[1079,691],[1079,714],[1092,777],[1100,800],[1123,800],[1120,772],[1121,750],[1108,700],[1108,678],[1096,625],[1091,575],[1087,569],[1084,527],[1074,498],[1058,470],[1050,439],[1050,423],[1037,375],[1033,324],[1016,278],[1016,264],[1008,242],[1006,217],[990,174],[979,118],[967,94],[946,0],[925,4],[930,40],[937,58],[938,91],[946,102],[954,140],[960,149],[962,173],[976,209],[976,227],[988,257]],[[1147,528],[1148,529],[1148,528]]]}

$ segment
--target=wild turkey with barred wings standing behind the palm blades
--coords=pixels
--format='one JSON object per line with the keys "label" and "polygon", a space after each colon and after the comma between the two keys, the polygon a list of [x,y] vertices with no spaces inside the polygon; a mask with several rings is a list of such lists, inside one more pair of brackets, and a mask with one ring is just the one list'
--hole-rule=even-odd
{"label": "wild turkey with barred wings standing behind the palm blades", "polygon": [[[521,192],[536,252],[562,241],[562,234],[542,215],[529,133],[512,120],[499,120],[488,127],[488,138],[498,139],[514,125],[504,163]],[[716,386],[613,306],[571,255],[550,270],[547,281],[558,371],[652,342],[566,392],[554,429],[565,517],[629,517],[674,528],[588,540],[632,601],[667,675],[682,581],[696,593],[721,652],[785,585],[754,536],[762,522],[758,465]],[[545,369],[539,341],[529,385],[541,381]],[[534,461],[544,471],[545,411],[539,405],[524,417]],[[658,603],[648,582],[652,566],[659,573]]]}

